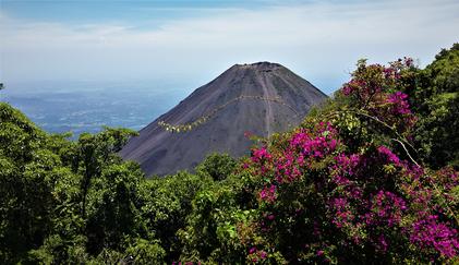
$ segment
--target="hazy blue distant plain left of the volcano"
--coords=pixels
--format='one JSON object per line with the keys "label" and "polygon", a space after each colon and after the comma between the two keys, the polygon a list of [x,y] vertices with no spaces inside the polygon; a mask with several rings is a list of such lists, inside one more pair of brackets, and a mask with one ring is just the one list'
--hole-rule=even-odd
{"label": "hazy blue distant plain left of the volcano", "polygon": [[188,91],[171,82],[39,82],[8,84],[1,100],[21,109],[51,133],[96,133],[104,125],[140,130],[162,115]]}

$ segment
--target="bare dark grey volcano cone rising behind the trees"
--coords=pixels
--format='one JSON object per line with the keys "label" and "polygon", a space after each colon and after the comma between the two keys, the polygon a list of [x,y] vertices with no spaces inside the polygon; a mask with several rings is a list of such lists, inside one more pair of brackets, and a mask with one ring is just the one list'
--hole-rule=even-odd
{"label": "bare dark grey volcano cone rising behind the trees", "polygon": [[250,154],[246,132],[266,137],[288,131],[326,98],[278,63],[235,64],[142,129],[120,155],[147,176],[193,170],[213,152]]}

